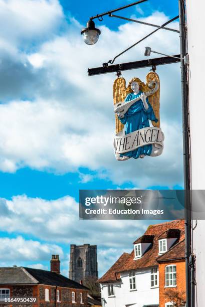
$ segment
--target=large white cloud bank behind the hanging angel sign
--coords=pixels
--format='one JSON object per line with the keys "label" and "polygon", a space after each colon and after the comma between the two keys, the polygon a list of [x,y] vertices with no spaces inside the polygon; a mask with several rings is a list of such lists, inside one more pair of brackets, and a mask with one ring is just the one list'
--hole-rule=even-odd
{"label": "large white cloud bank behind the hanging angel sign", "polygon": [[[57,5],[55,1],[43,3],[49,10]],[[57,12],[62,16],[60,9]],[[155,12],[142,20],[162,24],[167,19]],[[182,158],[176,159],[182,157],[179,65],[157,68],[161,78],[161,126],[165,132],[163,154],[143,161],[117,162],[113,150],[115,75],[88,77],[87,68],[114,57],[149,33],[150,27],[127,23],[115,32],[102,26],[102,35],[94,46],[83,43],[80,28],[73,21],[64,35],[45,41],[34,53],[18,54],[18,73],[7,88],[7,67],[14,59],[11,56],[8,60],[4,70],[8,81],[1,92],[7,99],[14,95],[10,103],[0,105],[0,170],[15,172],[30,167],[63,173],[85,167],[97,172],[96,178],[116,184],[132,182],[140,188],[182,184]],[[147,45],[162,53],[176,54],[178,36],[160,30],[116,62],[143,59]],[[147,72],[141,69],[123,76],[129,80],[136,75],[144,80]],[[27,101],[22,101],[22,96],[28,97]]]}

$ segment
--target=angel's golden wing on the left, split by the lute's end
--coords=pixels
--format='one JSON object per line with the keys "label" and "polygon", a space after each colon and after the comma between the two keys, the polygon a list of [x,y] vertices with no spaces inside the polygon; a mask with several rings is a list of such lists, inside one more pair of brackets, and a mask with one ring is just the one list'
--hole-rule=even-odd
{"label": "angel's golden wing on the left, split by the lute's end", "polygon": [[[113,101],[114,104],[124,101],[125,97],[128,94],[128,90],[126,88],[126,81],[124,78],[117,78],[113,84]],[[115,114],[115,126],[116,133],[123,130],[124,125],[119,120],[118,116]]]}

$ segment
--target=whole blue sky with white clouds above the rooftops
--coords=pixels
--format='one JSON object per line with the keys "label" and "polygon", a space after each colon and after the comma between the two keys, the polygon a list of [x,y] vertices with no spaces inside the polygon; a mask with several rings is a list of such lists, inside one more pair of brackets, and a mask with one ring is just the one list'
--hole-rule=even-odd
{"label": "whole blue sky with white clouds above the rooftops", "polygon": [[[59,254],[68,275],[70,244],[90,243],[98,245],[101,276],[157,221],[80,221],[79,189],[183,188],[180,64],[157,67],[163,154],[122,163],[113,150],[116,76],[87,74],[153,31],[104,17],[96,21],[98,43],[84,44],[89,17],[129,3],[0,0],[1,266],[49,269],[51,254]],[[177,6],[149,0],[116,15],[161,25]],[[179,36],[159,30],[116,63],[144,59],[145,46],[178,54]],[[123,77],[145,81],[148,72]]]}

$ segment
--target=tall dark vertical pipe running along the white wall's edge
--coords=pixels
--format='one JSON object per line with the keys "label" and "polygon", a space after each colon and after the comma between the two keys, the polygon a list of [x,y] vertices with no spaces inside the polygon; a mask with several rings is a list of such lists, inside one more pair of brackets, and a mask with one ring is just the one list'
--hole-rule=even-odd
{"label": "tall dark vertical pipe running along the white wall's edge", "polygon": [[[180,31],[180,53],[181,58],[186,55],[185,35],[185,7],[184,0],[178,0],[179,5],[179,31]],[[190,200],[190,155],[189,155],[189,117],[188,117],[188,88],[186,80],[186,68],[181,60],[181,99],[182,99],[182,124],[183,124],[183,170],[184,170],[184,226],[185,226],[185,265],[186,265],[186,307],[191,304],[191,284],[189,257],[191,254],[191,200]]]}

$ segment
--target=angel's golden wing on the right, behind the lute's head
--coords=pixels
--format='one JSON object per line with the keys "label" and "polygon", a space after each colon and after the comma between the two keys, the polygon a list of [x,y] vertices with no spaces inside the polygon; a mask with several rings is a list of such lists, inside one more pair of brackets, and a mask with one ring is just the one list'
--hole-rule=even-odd
{"label": "angel's golden wing on the right, behind the lute's head", "polygon": [[159,116],[160,81],[159,81],[159,76],[155,72],[149,72],[146,75],[146,85],[145,85],[146,90],[145,91],[150,90],[150,88],[148,87],[148,84],[151,81],[157,81],[159,84],[158,90],[151,96],[148,96],[149,103],[151,104],[154,114],[156,118],[158,119],[157,122],[152,121],[152,124],[154,127],[159,128],[160,127],[160,116]]}

